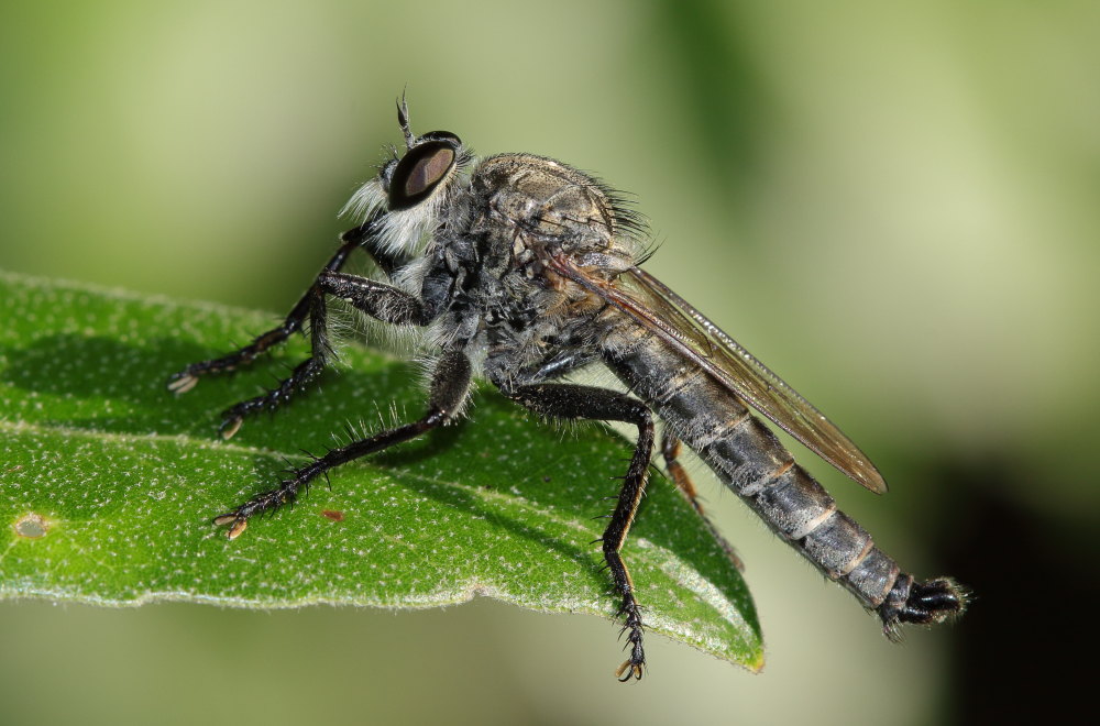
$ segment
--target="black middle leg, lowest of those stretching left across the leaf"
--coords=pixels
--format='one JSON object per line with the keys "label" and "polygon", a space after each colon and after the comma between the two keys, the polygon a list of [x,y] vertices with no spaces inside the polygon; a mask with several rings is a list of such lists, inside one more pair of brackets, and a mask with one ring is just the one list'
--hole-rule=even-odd
{"label": "black middle leg, lowest of those stretching left across the leaf", "polygon": [[376,453],[447,424],[462,407],[470,388],[470,359],[459,351],[443,353],[432,375],[428,413],[419,420],[332,449],[323,457],[315,457],[305,466],[292,471],[290,476],[278,486],[252,497],[228,514],[215,517],[213,524],[229,525],[229,538],[234,539],[248,527],[249,517],[273,513],[286,504],[293,505],[309,488],[310,482],[328,475],[333,466]]}

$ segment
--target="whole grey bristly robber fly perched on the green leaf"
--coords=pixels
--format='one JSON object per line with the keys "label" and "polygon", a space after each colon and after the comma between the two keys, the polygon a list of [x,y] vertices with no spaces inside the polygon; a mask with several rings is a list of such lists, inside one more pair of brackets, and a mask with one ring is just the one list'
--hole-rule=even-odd
{"label": "whole grey bristly robber fly perched on the green leaf", "polygon": [[[251,363],[308,330],[310,358],[274,389],[223,414],[221,433],[233,436],[246,416],[287,402],[331,360],[327,306],[339,298],[383,322],[426,328],[428,344],[438,350],[427,411],[314,458],[215,518],[229,527],[230,538],[251,517],[294,502],[333,466],[453,421],[477,361],[505,396],[542,417],[638,429],[601,539],[627,636],[620,680],[641,678],[646,662],[641,612],[622,552],[646,488],[654,415],[664,422],[661,451],[670,476],[700,514],[676,461],[681,442],[780,537],[876,610],[889,636],[901,623],[941,623],[963,612],[967,595],[959,585],[947,578],[920,582],[902,572],[750,414],[749,407],[763,414],[870,491],[886,492],[867,457],[817,409],[638,266],[644,224],[614,191],[551,158],[501,154],[476,161],[453,133],[418,136],[404,100],[397,121],[404,152],[394,150],[352,196],[344,211],[359,226],[342,235],[286,320],[239,351],[187,366],[168,386],[186,392],[200,376]],[[387,282],[340,272],[355,250],[373,257]],[[556,382],[596,364],[630,393]]]}

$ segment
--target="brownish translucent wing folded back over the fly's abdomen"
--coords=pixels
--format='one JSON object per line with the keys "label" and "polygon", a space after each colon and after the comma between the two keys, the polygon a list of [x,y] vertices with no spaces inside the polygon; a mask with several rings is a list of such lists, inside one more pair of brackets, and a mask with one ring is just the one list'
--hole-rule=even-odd
{"label": "brownish translucent wing folded back over the fly's abdomen", "polygon": [[608,284],[562,257],[551,266],[653,331],[845,475],[877,494],[887,491],[878,469],[840,429],[661,280],[640,267]]}

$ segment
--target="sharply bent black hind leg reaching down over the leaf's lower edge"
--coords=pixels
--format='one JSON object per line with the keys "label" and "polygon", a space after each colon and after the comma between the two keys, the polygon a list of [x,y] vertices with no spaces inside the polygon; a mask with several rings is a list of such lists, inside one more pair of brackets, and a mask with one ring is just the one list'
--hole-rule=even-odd
{"label": "sharply bent black hind leg reaching down over the leaf's lower edge", "polygon": [[615,674],[620,681],[640,679],[646,664],[642,649],[641,608],[634,596],[634,582],[623,561],[623,544],[634,522],[638,505],[646,492],[649,473],[649,458],[653,452],[653,418],[641,402],[615,391],[578,386],[571,384],[539,384],[516,386],[505,392],[509,398],[532,411],[554,418],[581,418],[601,421],[624,421],[638,427],[638,442],[635,446],[630,468],[623,479],[618,502],[610,521],[601,538],[604,560],[610,571],[615,590],[623,597],[617,615],[623,618],[623,632],[627,634],[627,649],[630,657],[619,666]]}

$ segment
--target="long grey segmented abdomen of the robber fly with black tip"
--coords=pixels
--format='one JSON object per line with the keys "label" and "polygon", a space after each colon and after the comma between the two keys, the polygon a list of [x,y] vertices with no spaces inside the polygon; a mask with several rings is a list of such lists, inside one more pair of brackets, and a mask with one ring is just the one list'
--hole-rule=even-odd
{"label": "long grey segmented abdomen of the robber fly with black tip", "polygon": [[961,609],[954,582],[914,583],[901,572],[725,386],[656,337],[628,338],[608,351],[612,370],[778,535],[877,609],[888,635],[899,622],[935,623]]}

